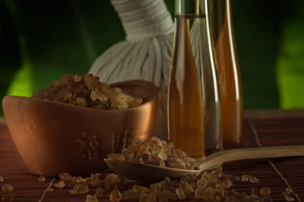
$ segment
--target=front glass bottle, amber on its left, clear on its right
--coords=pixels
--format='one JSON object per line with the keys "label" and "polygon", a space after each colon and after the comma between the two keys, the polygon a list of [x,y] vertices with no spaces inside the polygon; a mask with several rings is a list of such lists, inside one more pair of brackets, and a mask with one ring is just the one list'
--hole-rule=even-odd
{"label": "front glass bottle, amber on its left, clear on its right", "polygon": [[168,92],[169,140],[188,156],[202,157],[205,151],[207,154],[221,149],[222,142],[208,0],[176,0],[175,4]]}

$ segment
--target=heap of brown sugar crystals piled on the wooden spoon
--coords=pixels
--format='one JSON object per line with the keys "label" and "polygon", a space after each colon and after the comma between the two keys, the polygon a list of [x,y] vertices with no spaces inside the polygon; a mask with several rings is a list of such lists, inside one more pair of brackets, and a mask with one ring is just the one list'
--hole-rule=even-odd
{"label": "heap of brown sugar crystals piled on the wooden spoon", "polygon": [[141,164],[152,164],[178,169],[194,169],[192,159],[187,154],[175,149],[173,142],[167,143],[158,137],[134,139],[132,145],[122,150],[121,154],[109,154],[108,159],[132,161]]}

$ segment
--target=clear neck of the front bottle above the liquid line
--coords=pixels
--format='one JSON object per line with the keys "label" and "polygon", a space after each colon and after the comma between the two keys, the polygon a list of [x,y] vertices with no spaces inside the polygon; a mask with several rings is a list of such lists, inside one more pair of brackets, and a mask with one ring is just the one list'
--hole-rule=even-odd
{"label": "clear neck of the front bottle above the liquid line", "polygon": [[175,15],[205,15],[208,0],[175,0]]}

